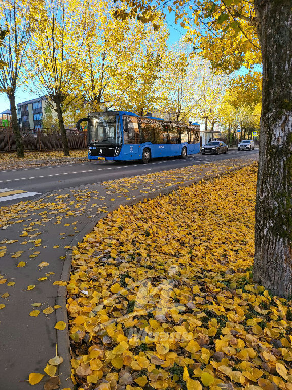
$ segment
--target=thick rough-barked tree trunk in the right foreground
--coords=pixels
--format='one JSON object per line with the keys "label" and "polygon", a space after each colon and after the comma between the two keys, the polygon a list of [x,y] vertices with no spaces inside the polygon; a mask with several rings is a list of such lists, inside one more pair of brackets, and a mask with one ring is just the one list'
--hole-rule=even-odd
{"label": "thick rough-barked tree trunk in the right foreground", "polygon": [[292,0],[255,0],[263,57],[254,281],[292,294]]}

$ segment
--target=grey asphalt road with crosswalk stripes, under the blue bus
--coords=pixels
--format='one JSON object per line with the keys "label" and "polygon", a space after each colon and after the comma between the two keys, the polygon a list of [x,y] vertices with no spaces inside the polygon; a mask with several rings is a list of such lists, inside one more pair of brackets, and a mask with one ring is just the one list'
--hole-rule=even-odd
{"label": "grey asphalt road with crosswalk stripes, under the blue bus", "polygon": [[32,200],[50,191],[79,185],[100,183],[122,177],[143,175],[191,165],[210,164],[216,160],[246,157],[254,151],[230,150],[228,154],[195,154],[186,159],[155,159],[149,164],[140,161],[114,163],[113,161],[88,161],[82,164],[26,168],[0,172],[0,207]]}

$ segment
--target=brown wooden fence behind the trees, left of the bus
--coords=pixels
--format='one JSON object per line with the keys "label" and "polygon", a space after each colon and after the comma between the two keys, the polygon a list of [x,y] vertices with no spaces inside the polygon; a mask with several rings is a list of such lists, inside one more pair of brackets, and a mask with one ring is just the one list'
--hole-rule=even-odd
{"label": "brown wooden fence behind the trees, left of the bus", "polygon": [[[59,129],[21,129],[24,150],[59,150],[63,148],[61,131]],[[70,149],[84,149],[87,146],[87,132],[67,130]],[[15,137],[12,128],[0,127],[0,152],[16,150]]]}

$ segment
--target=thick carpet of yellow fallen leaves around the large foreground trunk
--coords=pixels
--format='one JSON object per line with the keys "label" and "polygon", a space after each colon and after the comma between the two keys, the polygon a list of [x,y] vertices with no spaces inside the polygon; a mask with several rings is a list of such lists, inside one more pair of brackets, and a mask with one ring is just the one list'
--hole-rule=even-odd
{"label": "thick carpet of yellow fallen leaves around the large foreground trunk", "polygon": [[292,302],[252,280],[256,171],[120,207],[74,249],[78,389],[292,390]]}

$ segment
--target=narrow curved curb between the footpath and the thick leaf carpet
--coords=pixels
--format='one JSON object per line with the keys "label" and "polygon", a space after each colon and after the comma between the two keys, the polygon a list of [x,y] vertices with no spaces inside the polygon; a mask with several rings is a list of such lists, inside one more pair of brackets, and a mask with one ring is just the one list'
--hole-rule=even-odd
{"label": "narrow curved curb between the footpath and the thick leaf carpet", "polygon": [[[184,187],[189,187],[192,184],[199,183],[202,179],[204,181],[214,179],[218,176],[225,176],[229,174],[230,172],[237,171],[239,169],[248,167],[251,164],[254,164],[255,161],[252,161],[251,163],[246,163],[239,165],[237,167],[233,167],[229,169],[228,171],[224,171],[221,173],[215,173],[215,174],[210,174],[206,177],[202,177],[200,179],[193,179],[193,180],[187,180],[184,183],[181,184],[175,184],[171,185],[169,187],[161,188],[158,190],[153,191],[152,193],[148,194],[141,194],[138,195],[135,199],[131,199],[130,201],[122,201],[120,205],[117,206],[112,206],[108,207],[108,213],[113,212],[114,210],[117,210],[120,206],[133,206],[139,202],[142,202],[144,199],[154,199],[158,196],[165,195],[167,193],[170,193],[172,191],[176,191],[179,188],[184,188]],[[53,193],[56,191],[48,192]],[[44,198],[47,194],[42,195],[40,199]],[[37,198],[39,199],[39,198]],[[77,246],[78,242],[81,242],[83,238],[89,234],[95,225],[98,223],[100,219],[104,218],[103,216],[97,217],[94,220],[90,220],[84,228],[78,233],[77,236],[75,236],[72,241],[70,242],[71,246]],[[71,272],[71,257],[72,257],[72,249],[68,249],[66,252],[66,258],[64,259],[64,265],[63,265],[63,270],[62,274],[60,277],[60,280],[68,281],[70,277],[70,272]],[[62,306],[59,310],[56,310],[56,321],[64,321],[66,324],[68,324],[68,314],[67,314],[67,287],[66,286],[59,286],[58,292],[57,292],[57,297],[56,297],[56,304]],[[65,333],[64,333],[65,332]],[[60,388],[70,388],[71,390],[74,390],[74,384],[72,383],[72,380],[70,379],[71,376],[71,355],[70,355],[70,336],[69,336],[69,328],[68,326],[65,328],[64,331],[59,331],[57,330],[57,344],[58,344],[58,353],[59,356],[62,356],[63,358],[63,363],[62,363],[62,373],[59,372],[60,374],[63,374],[63,377],[60,376]],[[60,368],[59,368],[60,370]],[[66,379],[64,379],[66,378]],[[69,383],[68,383],[69,382]]]}

